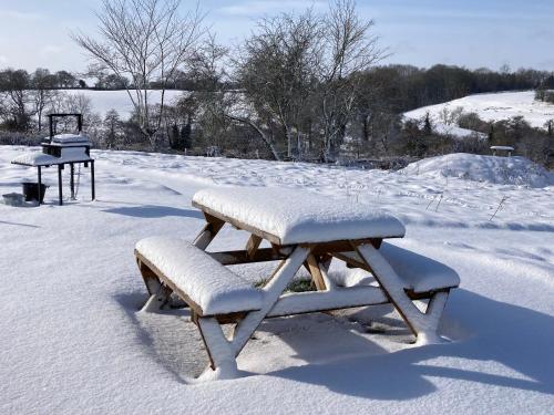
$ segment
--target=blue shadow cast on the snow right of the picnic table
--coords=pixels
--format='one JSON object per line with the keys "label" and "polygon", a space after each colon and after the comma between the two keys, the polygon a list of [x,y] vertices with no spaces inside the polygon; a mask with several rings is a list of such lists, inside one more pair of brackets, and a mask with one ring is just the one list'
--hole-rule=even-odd
{"label": "blue shadow cast on the snow right of the picnic table", "polygon": [[[552,315],[494,301],[463,289],[452,293],[447,311],[461,320],[462,326],[475,328],[470,339],[393,353],[382,351],[378,355],[368,353],[331,363],[285,369],[270,375],[373,400],[409,400],[430,394],[437,391],[437,386],[428,377],[463,380],[554,395]],[[311,362],[314,350],[319,346],[319,343],[314,345],[306,340],[286,341],[295,349],[297,356],[308,363]],[[425,364],[425,361],[437,357],[494,361],[519,372],[521,377],[531,380],[441,366],[438,363]]]}

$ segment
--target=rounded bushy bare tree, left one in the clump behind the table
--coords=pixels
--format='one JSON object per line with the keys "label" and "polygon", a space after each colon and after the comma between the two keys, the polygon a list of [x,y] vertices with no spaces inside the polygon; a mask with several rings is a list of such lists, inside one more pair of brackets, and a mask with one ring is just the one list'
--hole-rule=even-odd
{"label": "rounded bushy bare tree, left one in the clump behind the table", "polygon": [[[288,157],[293,156],[294,135],[299,134],[300,115],[317,86],[324,33],[320,23],[310,9],[300,15],[261,19],[234,62],[248,104],[283,127]],[[263,135],[252,117],[246,122]]]}

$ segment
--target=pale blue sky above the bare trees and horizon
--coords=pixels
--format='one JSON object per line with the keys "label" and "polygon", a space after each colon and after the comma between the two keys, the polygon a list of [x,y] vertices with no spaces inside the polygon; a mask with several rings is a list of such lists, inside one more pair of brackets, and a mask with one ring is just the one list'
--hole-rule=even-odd
{"label": "pale blue sky above the bare trees and horizon", "polygon": [[[0,68],[82,71],[86,58],[69,33],[93,33],[99,0],[0,0]],[[184,0],[194,7],[195,1]],[[301,11],[318,0],[201,0],[206,23],[222,43],[248,35],[256,18]],[[499,69],[509,64],[554,71],[554,0],[358,0],[376,21],[388,62]]]}

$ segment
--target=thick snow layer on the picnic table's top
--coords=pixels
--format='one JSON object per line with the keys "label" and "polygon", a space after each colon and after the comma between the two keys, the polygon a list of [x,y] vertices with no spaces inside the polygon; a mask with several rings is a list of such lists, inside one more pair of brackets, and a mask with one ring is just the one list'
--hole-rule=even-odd
{"label": "thick snow layer on the picnic table's top", "polygon": [[279,239],[283,245],[403,237],[404,226],[371,205],[277,187],[209,188],[193,204]]}

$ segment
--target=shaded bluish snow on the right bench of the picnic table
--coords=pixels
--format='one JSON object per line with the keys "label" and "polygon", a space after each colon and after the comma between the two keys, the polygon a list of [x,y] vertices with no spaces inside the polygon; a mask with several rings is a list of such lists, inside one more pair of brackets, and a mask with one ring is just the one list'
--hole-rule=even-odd
{"label": "shaded bluish snow on the right bench of the picnic table", "polygon": [[[379,252],[400,277],[403,288],[417,294],[450,289],[460,284],[460,277],[452,268],[429,257],[387,242],[382,242]],[[330,277],[337,283],[347,287],[362,286],[372,281],[371,277],[363,278],[359,271],[348,277],[340,274]]]}

